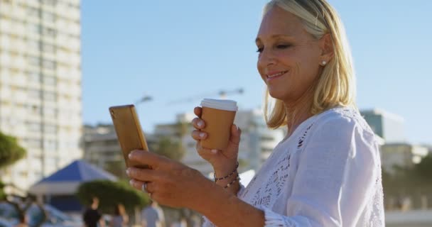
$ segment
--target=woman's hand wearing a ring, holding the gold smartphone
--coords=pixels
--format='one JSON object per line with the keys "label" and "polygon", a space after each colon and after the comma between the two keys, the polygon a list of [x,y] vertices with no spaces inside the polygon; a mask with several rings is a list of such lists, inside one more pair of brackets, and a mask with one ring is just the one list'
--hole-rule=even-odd
{"label": "woman's hand wearing a ring, holding the gold smartphone", "polygon": [[167,157],[134,150],[129,154],[129,159],[151,167],[129,167],[126,173],[131,178],[129,183],[136,189],[143,190],[147,182],[145,191],[159,204],[193,208],[203,204],[200,199],[205,198],[206,188],[212,187],[212,182],[198,170]]}

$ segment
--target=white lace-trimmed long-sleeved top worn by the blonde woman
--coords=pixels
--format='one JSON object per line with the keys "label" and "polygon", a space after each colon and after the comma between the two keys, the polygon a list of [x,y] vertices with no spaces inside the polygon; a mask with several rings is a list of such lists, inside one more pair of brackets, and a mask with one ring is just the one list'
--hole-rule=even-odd
{"label": "white lace-trimmed long-sleeved top worn by the blonde woman", "polygon": [[303,121],[237,196],[265,226],[385,226],[377,140],[346,107]]}

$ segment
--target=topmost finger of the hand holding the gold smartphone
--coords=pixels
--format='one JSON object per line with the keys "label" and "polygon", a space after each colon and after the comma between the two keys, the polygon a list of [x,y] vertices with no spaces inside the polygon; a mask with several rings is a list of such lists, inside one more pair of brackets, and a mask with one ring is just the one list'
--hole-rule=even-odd
{"label": "topmost finger of the hand holding the gold smartphone", "polygon": [[138,162],[141,165],[149,165],[153,170],[169,170],[174,163],[173,160],[167,157],[157,155],[145,150],[133,150],[129,153],[129,160]]}

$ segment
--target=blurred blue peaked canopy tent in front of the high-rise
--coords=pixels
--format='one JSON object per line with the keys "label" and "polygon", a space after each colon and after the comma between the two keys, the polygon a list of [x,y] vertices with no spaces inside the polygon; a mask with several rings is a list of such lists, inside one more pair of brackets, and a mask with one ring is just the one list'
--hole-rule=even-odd
{"label": "blurred blue peaked canopy tent in front of the high-rise", "polygon": [[41,198],[45,198],[45,202],[61,211],[80,211],[82,206],[75,197],[75,192],[83,182],[96,179],[117,181],[117,177],[109,172],[90,165],[84,160],[75,160],[53,175],[33,184],[28,189],[28,193],[36,195],[40,201]]}

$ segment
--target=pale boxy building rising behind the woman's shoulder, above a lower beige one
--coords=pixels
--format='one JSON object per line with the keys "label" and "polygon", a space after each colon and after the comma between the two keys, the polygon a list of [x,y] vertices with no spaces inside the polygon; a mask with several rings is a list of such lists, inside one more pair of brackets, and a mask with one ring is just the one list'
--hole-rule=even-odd
{"label": "pale boxy building rising behind the woman's shoulder, above a lower beige one", "polygon": [[406,142],[404,118],[382,109],[360,111],[375,134],[384,139],[384,143]]}

